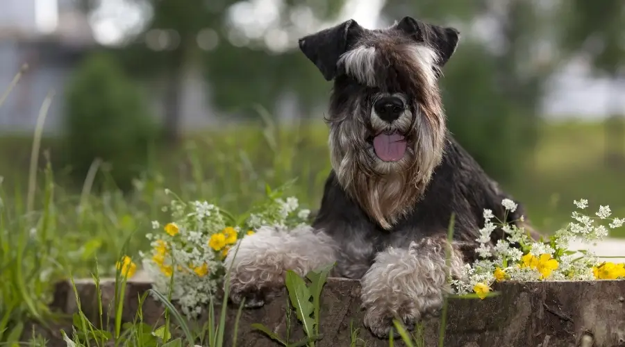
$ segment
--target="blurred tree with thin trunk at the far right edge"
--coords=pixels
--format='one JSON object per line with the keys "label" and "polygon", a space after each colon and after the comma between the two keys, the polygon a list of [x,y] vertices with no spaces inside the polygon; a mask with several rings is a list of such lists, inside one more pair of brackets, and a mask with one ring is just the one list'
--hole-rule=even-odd
{"label": "blurred tree with thin trunk at the far right edge", "polygon": [[[590,58],[594,73],[614,83],[625,79],[625,1],[569,0],[567,48]],[[622,95],[614,91],[608,103],[620,104]],[[612,105],[608,105],[610,107]],[[606,164],[625,165],[625,120],[613,110],[605,123]]]}

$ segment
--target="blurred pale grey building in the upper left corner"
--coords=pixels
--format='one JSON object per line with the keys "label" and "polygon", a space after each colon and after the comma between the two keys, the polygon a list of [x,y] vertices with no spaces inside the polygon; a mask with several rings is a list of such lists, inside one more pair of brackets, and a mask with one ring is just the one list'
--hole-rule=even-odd
{"label": "blurred pale grey building in the upper left corner", "polygon": [[63,85],[76,61],[94,44],[87,18],[72,0],[3,0],[0,9],[0,90],[19,69],[28,73],[0,106],[0,129],[32,131],[49,92],[55,102],[46,130],[60,126]]}

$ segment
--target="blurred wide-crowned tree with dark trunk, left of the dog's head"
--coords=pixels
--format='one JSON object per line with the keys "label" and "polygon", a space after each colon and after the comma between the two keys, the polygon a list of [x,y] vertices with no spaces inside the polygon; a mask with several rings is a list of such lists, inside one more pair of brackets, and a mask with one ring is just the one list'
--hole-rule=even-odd
{"label": "blurred wide-crowned tree with dark trunk, left of the dog's head", "polygon": [[[101,0],[82,1],[94,11]],[[183,79],[188,72],[203,74],[211,86],[213,105],[235,116],[249,117],[255,105],[274,112],[282,96],[297,96],[302,110],[321,101],[329,85],[297,51],[297,37],[307,28],[304,17],[335,19],[344,0],[285,0],[278,16],[260,31],[245,32],[233,25],[237,6],[253,8],[256,1],[238,0],[127,0],[150,8],[147,25],[130,44],[117,49],[129,72],[163,85],[165,138],[176,141]],[[243,22],[263,22],[249,12]],[[284,42],[286,41],[286,42]],[[288,46],[284,46],[287,43]]]}

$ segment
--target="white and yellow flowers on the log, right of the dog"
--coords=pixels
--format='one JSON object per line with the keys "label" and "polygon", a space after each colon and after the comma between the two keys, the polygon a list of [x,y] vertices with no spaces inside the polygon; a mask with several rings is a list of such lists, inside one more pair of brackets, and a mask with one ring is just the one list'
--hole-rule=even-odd
{"label": "white and yellow flowers on the log, right of the dog", "polygon": [[[508,212],[514,212],[517,204],[510,199],[503,199],[501,205]],[[574,201],[580,210],[588,206],[588,201]],[[480,259],[473,264],[466,264],[460,279],[450,279],[456,294],[469,294],[475,291],[488,291],[497,280],[517,280],[521,282],[535,280],[594,280],[599,260],[588,251],[569,251],[569,242],[575,238],[586,242],[597,242],[608,235],[608,228],[597,223],[597,219],[610,219],[609,206],[600,206],[597,217],[588,217],[580,212],[573,212],[573,222],[549,237],[549,242],[536,241],[529,237],[524,228],[513,222],[504,223],[495,219],[492,210],[483,212],[484,227],[479,230],[476,239]],[[521,219],[522,221],[523,219]],[[623,226],[625,219],[610,219],[609,228]],[[497,228],[505,232],[506,237],[496,244],[491,242],[491,234]],[[485,289],[486,288],[486,289]]]}

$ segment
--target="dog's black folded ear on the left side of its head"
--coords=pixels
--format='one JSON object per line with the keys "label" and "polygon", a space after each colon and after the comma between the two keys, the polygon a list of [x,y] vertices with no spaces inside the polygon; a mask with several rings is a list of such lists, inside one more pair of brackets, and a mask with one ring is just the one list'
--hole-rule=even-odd
{"label": "dog's black folded ear on the left side of its head", "polygon": [[322,72],[326,81],[331,81],[337,74],[337,62],[350,44],[365,31],[365,28],[349,19],[318,33],[299,39],[299,49]]}

